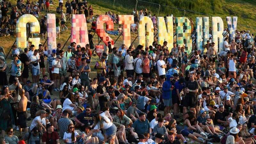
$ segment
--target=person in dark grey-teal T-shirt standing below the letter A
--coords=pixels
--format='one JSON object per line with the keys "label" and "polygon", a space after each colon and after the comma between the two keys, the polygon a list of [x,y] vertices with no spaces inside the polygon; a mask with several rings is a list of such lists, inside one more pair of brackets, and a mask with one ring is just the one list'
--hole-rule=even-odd
{"label": "person in dark grey-teal T-shirt standing below the letter A", "polygon": [[85,87],[87,86],[87,89],[89,89],[90,86],[90,80],[89,80],[89,73],[91,72],[90,65],[87,64],[86,58],[82,58],[82,65],[79,67],[79,70],[81,72],[81,84]]}

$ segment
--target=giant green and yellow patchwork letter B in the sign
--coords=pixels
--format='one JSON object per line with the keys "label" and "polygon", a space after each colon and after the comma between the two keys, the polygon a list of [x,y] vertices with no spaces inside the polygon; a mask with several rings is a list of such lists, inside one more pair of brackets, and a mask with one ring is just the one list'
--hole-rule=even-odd
{"label": "giant green and yellow patchwork letter B in the sign", "polygon": [[[185,28],[185,29],[184,29]],[[192,51],[191,24],[188,18],[176,18],[177,45],[185,44],[185,51]],[[185,43],[184,43],[185,41]]]}

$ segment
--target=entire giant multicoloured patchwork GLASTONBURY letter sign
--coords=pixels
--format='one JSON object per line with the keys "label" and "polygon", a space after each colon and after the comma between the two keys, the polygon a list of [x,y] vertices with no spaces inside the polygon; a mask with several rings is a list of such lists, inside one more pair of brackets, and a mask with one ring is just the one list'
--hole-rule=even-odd
{"label": "entire giant multicoloured patchwork GLASTONBURY letter sign", "polygon": [[[237,17],[226,17],[228,23],[228,30],[230,39],[235,38],[235,31],[237,25]],[[175,19],[177,44],[185,44],[186,52],[190,53],[192,50],[192,38],[191,38],[191,24],[188,18],[178,17]],[[40,33],[40,25],[35,16],[31,14],[24,14],[20,16],[16,25],[16,41],[17,47],[27,47],[27,33],[26,24],[30,23],[30,33]],[[108,15],[100,15],[96,20],[96,34],[107,45],[110,41],[112,47],[114,47],[113,39],[105,32],[104,23],[106,24],[106,30],[114,30],[113,20]],[[130,26],[133,24],[133,15],[119,15],[119,24],[123,25],[123,44],[126,48],[131,45],[131,30]],[[158,44],[163,44],[164,41],[168,42],[168,49],[171,50],[173,45],[173,17],[158,17]],[[146,26],[146,27],[145,27]],[[209,39],[209,17],[197,17],[196,18],[196,46],[198,49],[203,50],[203,45]],[[212,42],[217,46],[215,47],[217,52],[224,51],[223,48],[223,30],[224,25],[220,17],[212,17]],[[48,48],[56,49],[56,24],[55,14],[47,14],[47,42]],[[146,35],[145,35],[146,33]],[[138,23],[138,40],[139,44],[144,47],[149,47],[154,41],[154,29],[153,22],[149,17],[143,17]],[[34,44],[38,48],[40,38],[29,38],[29,42]],[[73,14],[71,23],[71,42],[76,42],[82,47],[89,44],[87,24],[84,14]],[[103,50],[103,45],[96,45],[97,51]]]}

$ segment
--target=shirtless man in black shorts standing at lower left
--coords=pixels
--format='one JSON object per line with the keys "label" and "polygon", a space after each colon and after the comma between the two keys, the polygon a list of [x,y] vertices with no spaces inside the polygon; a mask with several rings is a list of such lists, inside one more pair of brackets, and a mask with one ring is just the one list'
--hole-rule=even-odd
{"label": "shirtless man in black shorts standing at lower left", "polygon": [[19,108],[17,110],[17,116],[18,116],[18,126],[19,126],[19,131],[20,131],[20,136],[22,137],[22,129],[24,128],[24,132],[25,134],[28,132],[28,128],[27,128],[27,103],[28,103],[28,99],[25,96],[25,90],[24,89],[20,89],[19,90],[19,94],[20,94],[20,102],[19,102]]}

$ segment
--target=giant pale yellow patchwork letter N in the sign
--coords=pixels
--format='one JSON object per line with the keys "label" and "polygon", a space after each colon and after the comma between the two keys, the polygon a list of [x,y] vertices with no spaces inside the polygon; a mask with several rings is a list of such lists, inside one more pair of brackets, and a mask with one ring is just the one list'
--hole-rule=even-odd
{"label": "giant pale yellow patchwork letter N in the sign", "polygon": [[[157,17],[158,25],[158,44],[163,44],[167,41],[168,50],[173,48],[173,19],[172,17],[166,17],[166,24],[164,17]],[[166,28],[167,27],[167,28]]]}

